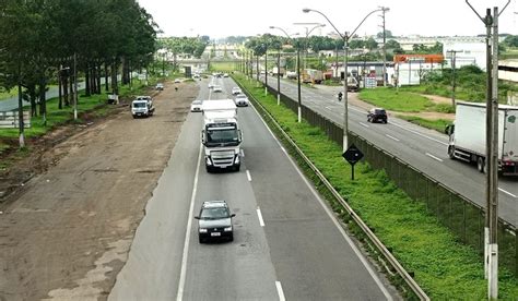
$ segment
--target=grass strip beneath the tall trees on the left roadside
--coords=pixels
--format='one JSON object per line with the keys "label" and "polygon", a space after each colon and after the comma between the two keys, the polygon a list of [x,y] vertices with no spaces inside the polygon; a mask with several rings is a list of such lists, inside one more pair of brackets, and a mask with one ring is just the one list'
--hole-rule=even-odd
{"label": "grass strip beneath the tall trees on the left roadside", "polygon": [[[150,85],[154,85],[156,80],[150,80]],[[133,80],[132,89],[130,91],[129,86],[121,86],[119,88],[120,98],[129,98],[134,95],[142,94],[146,86],[143,82]],[[81,93],[81,92],[80,92]],[[25,110],[28,110],[30,107],[24,107]],[[113,106],[107,105],[107,95],[91,95],[89,97],[84,94],[80,94],[78,100],[78,120],[73,120],[73,106],[66,107],[60,110],[58,108],[58,98],[51,98],[47,100],[47,116],[46,124],[43,117],[39,115],[37,117],[31,118],[31,128],[25,129],[25,137],[33,139],[46,134],[49,131],[52,131],[59,125],[68,123],[84,123],[85,120],[91,120],[93,118],[98,118],[108,115],[114,109]],[[0,129],[0,155],[4,152],[12,150],[12,147],[16,144],[13,141],[19,139],[19,129]],[[28,145],[28,147],[31,147]],[[26,154],[25,150],[22,152]]]}

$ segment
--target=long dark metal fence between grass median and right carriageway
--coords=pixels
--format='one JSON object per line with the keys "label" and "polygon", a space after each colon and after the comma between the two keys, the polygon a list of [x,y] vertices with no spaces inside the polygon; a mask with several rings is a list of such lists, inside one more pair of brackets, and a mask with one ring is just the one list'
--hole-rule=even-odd
{"label": "long dark metal fence between grass median and right carriageway", "polygon": [[[269,87],[270,93],[276,91]],[[295,113],[297,101],[281,93],[281,101]],[[330,140],[342,145],[343,129],[330,119],[302,106],[303,118],[311,125],[320,128]],[[485,208],[471,202],[424,172],[412,167],[390,153],[377,147],[354,132],[349,132],[349,141],[363,153],[375,169],[384,169],[389,178],[410,197],[426,204],[427,209],[448,227],[457,240],[474,248],[481,257],[484,254]],[[517,229],[508,222],[498,220],[498,265],[509,269],[518,277]]]}

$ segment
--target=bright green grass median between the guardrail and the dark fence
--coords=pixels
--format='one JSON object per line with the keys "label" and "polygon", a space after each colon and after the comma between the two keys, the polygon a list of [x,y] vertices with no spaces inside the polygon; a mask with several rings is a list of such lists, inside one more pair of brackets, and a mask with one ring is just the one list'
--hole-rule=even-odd
{"label": "bright green grass median between the guardrail and the dark fence", "polygon": [[[276,106],[275,97],[264,96],[263,88],[256,87],[255,82],[249,83],[240,74],[234,77],[266,106],[362,219],[392,249],[403,266],[415,273],[415,279],[432,299],[486,299],[487,285],[479,254],[457,243],[451,232],[427,213],[423,203],[412,201],[384,171],[373,170],[365,162],[356,165],[356,180],[350,181],[351,168],[341,157],[341,146],[328,140],[318,128],[296,122],[294,112]],[[310,172],[308,174],[311,177]],[[315,182],[322,191],[319,181]],[[332,206],[335,212],[343,213],[337,204]],[[348,219],[346,216],[343,218]],[[499,278],[501,298],[516,300],[516,278],[502,269]]]}

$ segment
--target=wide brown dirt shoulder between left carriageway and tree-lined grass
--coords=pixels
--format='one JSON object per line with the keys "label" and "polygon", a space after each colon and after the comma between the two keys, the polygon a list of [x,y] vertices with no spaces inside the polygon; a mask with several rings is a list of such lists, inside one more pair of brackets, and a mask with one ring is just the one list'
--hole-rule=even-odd
{"label": "wide brown dirt shoulder between left carriageway and tree-lined grass", "polygon": [[198,94],[178,87],[151,118],[126,107],[32,158],[48,165],[0,204],[0,300],[107,298]]}

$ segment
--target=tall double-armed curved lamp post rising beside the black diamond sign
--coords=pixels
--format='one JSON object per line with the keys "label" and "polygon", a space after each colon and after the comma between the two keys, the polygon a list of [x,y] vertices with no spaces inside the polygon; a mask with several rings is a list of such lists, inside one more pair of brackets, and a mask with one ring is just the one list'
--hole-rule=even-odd
{"label": "tall double-armed curved lamp post rising beside the black diamond sign", "polygon": [[[362,22],[360,22],[360,24],[356,26],[356,28],[354,28],[354,31],[351,34],[349,34],[348,32],[344,32],[342,34],[339,29],[337,29],[337,26],[334,26],[334,24],[332,24],[332,22],[329,20],[329,17],[327,17],[327,15],[325,15],[322,12],[317,11],[317,10],[313,10],[313,9],[307,9],[307,8],[303,9],[303,12],[305,12],[305,13],[316,12],[316,13],[322,15],[329,22],[329,24],[334,28],[334,31],[340,35],[340,37],[343,39],[343,51],[344,51],[344,58],[343,58],[343,68],[344,68],[344,72],[343,72],[343,107],[344,107],[344,110],[343,110],[343,152],[345,152],[349,147],[349,143],[348,143],[348,132],[349,132],[349,127],[348,127],[348,119],[349,119],[349,110],[348,110],[348,103],[349,103],[349,96],[348,96],[348,89],[349,89],[349,83],[348,83],[349,39],[352,36],[354,36],[356,31],[360,28],[360,26],[362,26],[362,24],[365,22],[365,20],[369,15],[372,15],[375,12],[379,12],[379,11],[382,11],[382,9],[376,9],[376,10],[369,12],[362,20]],[[384,74],[384,76],[385,76],[385,74]]]}

